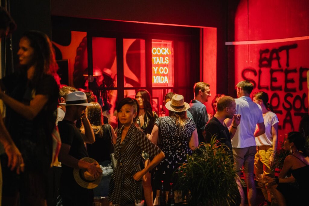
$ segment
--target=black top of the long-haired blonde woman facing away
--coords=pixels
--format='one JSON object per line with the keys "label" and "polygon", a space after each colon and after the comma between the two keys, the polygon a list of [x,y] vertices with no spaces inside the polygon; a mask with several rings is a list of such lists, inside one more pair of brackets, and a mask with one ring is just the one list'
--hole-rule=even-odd
{"label": "black top of the long-haired blonde woman facing away", "polygon": [[110,127],[109,124],[102,125],[103,135],[100,137],[98,134],[95,134],[95,142],[87,144],[89,157],[95,159],[97,162],[111,161],[112,141],[109,133],[111,131]]}

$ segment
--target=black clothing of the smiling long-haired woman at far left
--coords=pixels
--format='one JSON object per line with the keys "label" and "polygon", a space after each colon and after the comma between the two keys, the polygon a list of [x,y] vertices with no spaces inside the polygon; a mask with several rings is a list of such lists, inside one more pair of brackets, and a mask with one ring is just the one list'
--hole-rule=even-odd
{"label": "black clothing of the smiling long-haired woman at far left", "polygon": [[46,95],[47,103],[40,112],[28,120],[6,106],[5,124],[12,140],[22,152],[28,170],[49,168],[52,158],[52,131],[56,122],[59,90],[53,76],[44,74],[36,85],[23,74],[10,74],[1,79],[2,89],[13,99],[30,105],[35,95]]}

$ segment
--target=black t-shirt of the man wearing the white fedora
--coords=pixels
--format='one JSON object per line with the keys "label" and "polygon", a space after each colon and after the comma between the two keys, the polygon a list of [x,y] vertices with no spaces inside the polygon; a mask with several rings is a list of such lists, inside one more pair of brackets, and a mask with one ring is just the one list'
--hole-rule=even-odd
{"label": "black t-shirt of the man wearing the white fedora", "polygon": [[[80,160],[84,157],[88,157],[88,153],[83,141],[83,137],[80,130],[75,126],[75,124],[68,120],[62,120],[58,122],[59,133],[61,137],[62,144],[70,145],[69,155]],[[75,181],[73,177],[73,168],[61,165],[62,175],[61,179],[66,181]]]}

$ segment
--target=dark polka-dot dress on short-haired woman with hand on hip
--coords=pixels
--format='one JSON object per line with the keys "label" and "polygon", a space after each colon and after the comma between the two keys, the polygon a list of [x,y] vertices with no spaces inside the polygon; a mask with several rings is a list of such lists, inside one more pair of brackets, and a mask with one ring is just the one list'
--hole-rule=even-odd
{"label": "dark polka-dot dress on short-haired woman with hand on hip", "polygon": [[109,182],[108,200],[113,204],[132,204],[134,200],[142,199],[142,180],[136,181],[133,175],[141,171],[140,161],[142,150],[150,157],[155,157],[161,150],[154,145],[146,134],[133,123],[125,139],[121,141],[121,133],[124,127],[117,131],[115,144],[115,158],[117,166]]}

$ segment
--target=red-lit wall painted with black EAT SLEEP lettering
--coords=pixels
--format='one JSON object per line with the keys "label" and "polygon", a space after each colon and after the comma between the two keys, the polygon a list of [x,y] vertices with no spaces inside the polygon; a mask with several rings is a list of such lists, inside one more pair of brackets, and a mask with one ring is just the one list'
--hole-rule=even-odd
{"label": "red-lit wall painted with black EAT SLEEP lettering", "polygon": [[[235,41],[309,36],[309,1],[240,1],[235,14]],[[309,40],[229,46],[235,49],[235,84],[254,82],[268,93],[279,118],[279,140],[298,131],[308,113],[306,71]],[[309,125],[308,125],[309,126]]]}

